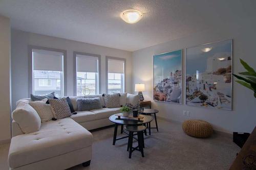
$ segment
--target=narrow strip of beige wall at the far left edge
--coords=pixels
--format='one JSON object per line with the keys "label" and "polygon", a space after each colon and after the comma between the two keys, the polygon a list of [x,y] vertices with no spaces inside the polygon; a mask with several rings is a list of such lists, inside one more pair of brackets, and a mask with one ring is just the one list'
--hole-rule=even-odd
{"label": "narrow strip of beige wall at the far left edge", "polygon": [[0,16],[0,144],[11,138],[10,125],[10,19]]}

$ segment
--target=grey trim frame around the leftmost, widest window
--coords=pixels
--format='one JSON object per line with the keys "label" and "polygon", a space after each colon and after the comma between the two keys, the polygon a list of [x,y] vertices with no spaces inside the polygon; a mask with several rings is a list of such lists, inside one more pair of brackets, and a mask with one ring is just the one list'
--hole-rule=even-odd
{"label": "grey trim frame around the leftmost, widest window", "polygon": [[52,52],[59,52],[63,54],[63,96],[67,95],[67,51],[66,50],[60,50],[56,48],[49,48],[49,47],[43,47],[43,46],[36,46],[36,45],[28,45],[28,55],[29,55],[29,93],[28,96],[30,97],[30,94],[33,92],[33,49],[34,50],[46,50],[46,51],[52,51]]}

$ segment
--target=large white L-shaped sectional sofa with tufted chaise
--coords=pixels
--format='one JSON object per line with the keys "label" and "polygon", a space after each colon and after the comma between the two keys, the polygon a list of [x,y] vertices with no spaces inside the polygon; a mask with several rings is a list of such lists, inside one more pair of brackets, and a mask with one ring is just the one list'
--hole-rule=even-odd
{"label": "large white L-shaped sectional sofa with tufted chaise", "polygon": [[[70,97],[77,110],[77,98],[102,95]],[[23,99],[30,100],[30,99]],[[139,96],[127,94],[126,103],[136,105]],[[17,101],[16,105],[22,102]],[[90,165],[93,136],[88,130],[110,126],[109,116],[120,113],[120,108],[101,108],[76,111],[68,118],[41,123],[39,131],[24,133],[18,123],[12,122],[12,139],[8,156],[10,169],[66,169],[80,163]]]}

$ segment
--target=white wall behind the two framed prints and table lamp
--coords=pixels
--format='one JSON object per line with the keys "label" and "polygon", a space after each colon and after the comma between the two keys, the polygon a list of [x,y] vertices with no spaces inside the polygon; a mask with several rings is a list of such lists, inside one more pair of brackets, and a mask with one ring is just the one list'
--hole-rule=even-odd
{"label": "white wall behind the two framed prints and table lamp", "polygon": [[[222,15],[219,14],[218,15]],[[223,14],[225,15],[225,14]],[[154,45],[133,52],[133,86],[145,83],[145,99],[153,101],[153,55],[184,49],[207,42],[233,39],[233,72],[243,71],[239,58],[247,61],[256,69],[255,40],[256,15],[253,18],[238,13],[232,16],[232,22],[221,21],[215,27],[173,41]],[[231,20],[231,19],[230,19]],[[184,52],[184,51],[183,51]],[[159,116],[183,122],[188,118],[199,118],[210,122],[216,130],[225,132],[251,132],[256,125],[256,99],[253,92],[233,81],[233,111],[223,111],[186,106],[185,89],[185,55],[183,53],[183,104],[153,102],[153,108],[159,109]],[[134,87],[133,87],[134,88]],[[190,117],[183,116],[183,110],[190,111]]]}

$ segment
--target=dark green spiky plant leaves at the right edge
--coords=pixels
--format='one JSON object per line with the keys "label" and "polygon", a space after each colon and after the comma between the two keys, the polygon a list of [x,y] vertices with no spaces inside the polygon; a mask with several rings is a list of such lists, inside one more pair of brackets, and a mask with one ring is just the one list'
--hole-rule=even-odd
{"label": "dark green spiky plant leaves at the right edge", "polygon": [[254,98],[256,98],[256,72],[252,67],[250,67],[242,59],[240,59],[240,62],[247,71],[239,72],[239,74],[246,76],[246,78],[235,75],[235,74],[232,74],[232,75],[239,79],[239,80],[236,80],[236,82],[238,82],[239,84],[242,84],[243,86],[251,89],[254,92]]}

